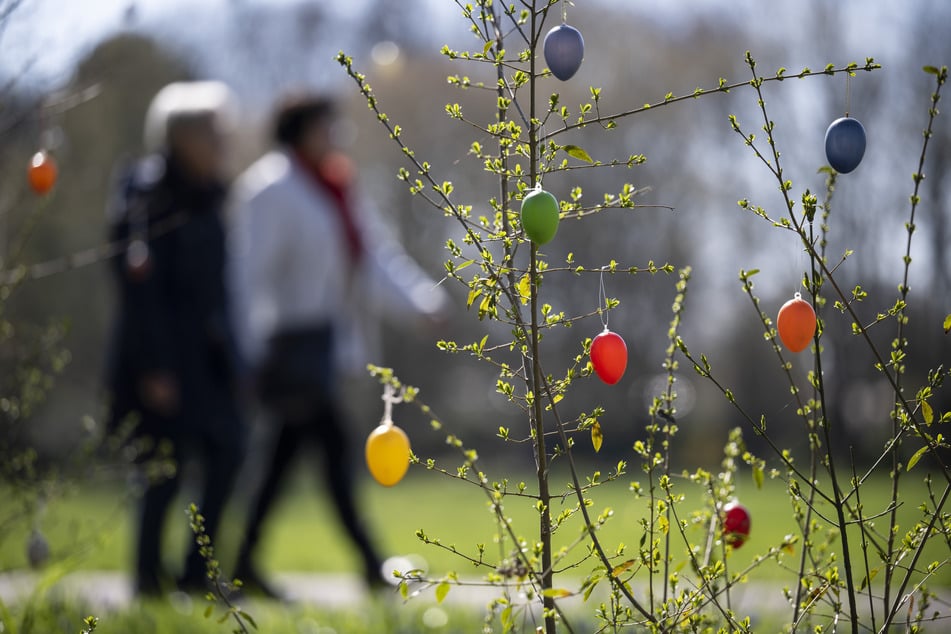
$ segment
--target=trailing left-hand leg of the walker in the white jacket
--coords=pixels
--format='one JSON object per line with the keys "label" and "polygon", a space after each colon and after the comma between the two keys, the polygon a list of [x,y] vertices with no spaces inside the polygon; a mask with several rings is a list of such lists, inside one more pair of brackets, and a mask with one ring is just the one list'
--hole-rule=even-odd
{"label": "trailing left-hand leg of the walker in the white jacket", "polygon": [[277,501],[278,491],[301,441],[302,434],[299,426],[281,423],[277,443],[266,467],[264,482],[258,491],[257,499],[251,506],[244,539],[238,551],[235,575],[245,582],[245,585],[248,585],[248,582],[260,582],[260,577],[254,568],[254,551],[261,537],[261,527],[274,502]]}

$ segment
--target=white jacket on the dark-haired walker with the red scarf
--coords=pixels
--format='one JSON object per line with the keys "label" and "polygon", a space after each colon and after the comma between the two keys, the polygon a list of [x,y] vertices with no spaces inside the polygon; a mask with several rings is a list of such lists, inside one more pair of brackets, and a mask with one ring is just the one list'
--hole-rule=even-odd
{"label": "white jacket on the dark-haired walker with the red scarf", "polygon": [[333,201],[285,153],[271,152],[241,175],[230,205],[229,272],[239,345],[256,364],[284,329],[331,324],[338,367],[363,370],[376,354],[381,315],[435,315],[441,287],[391,237],[358,197],[363,242],[356,269]]}

